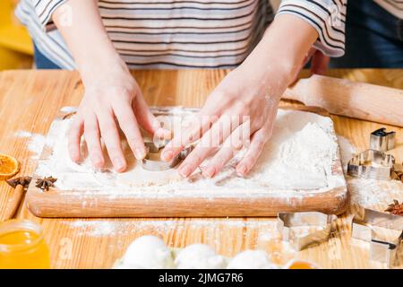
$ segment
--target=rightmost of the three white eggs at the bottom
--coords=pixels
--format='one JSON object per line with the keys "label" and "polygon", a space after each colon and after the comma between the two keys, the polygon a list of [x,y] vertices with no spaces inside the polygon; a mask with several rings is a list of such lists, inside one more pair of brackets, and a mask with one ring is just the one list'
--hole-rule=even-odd
{"label": "rightmost of the three white eggs at the bottom", "polygon": [[245,250],[232,258],[227,269],[278,269],[262,250]]}

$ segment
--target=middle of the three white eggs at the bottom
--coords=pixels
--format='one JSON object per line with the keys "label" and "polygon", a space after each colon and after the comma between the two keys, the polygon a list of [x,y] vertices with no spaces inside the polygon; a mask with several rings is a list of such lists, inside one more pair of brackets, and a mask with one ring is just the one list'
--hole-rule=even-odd
{"label": "middle of the three white eggs at the bottom", "polygon": [[226,262],[210,246],[192,244],[179,252],[175,264],[178,269],[222,269]]}

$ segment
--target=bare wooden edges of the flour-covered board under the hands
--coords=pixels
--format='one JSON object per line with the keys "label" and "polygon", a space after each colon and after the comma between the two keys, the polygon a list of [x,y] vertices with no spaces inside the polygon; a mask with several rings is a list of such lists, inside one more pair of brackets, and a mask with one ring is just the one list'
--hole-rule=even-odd
{"label": "bare wooden edges of the flour-covered board under the hands", "polygon": [[[283,108],[314,112],[330,117],[326,110],[315,107]],[[56,120],[66,117],[60,113]],[[45,146],[39,162],[46,160],[52,147]],[[344,180],[339,152],[333,161],[334,175]],[[290,175],[292,176],[292,175]],[[226,197],[136,197],[133,194],[110,196],[79,196],[81,191],[51,189],[42,192],[35,187],[39,178],[36,172],[27,192],[30,212],[39,217],[257,217],[276,216],[279,212],[320,211],[322,213],[344,213],[348,203],[347,186],[332,188],[321,193],[301,191],[290,196],[279,197],[277,193],[261,196]],[[191,193],[192,191],[189,191]],[[277,194],[277,195],[276,195]]]}

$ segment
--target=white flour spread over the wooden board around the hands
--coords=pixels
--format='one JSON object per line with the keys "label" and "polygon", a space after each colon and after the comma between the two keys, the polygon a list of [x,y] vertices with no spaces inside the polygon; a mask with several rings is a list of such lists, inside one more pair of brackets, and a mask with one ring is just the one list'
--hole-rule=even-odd
{"label": "white flour spread over the wooden board around the hands", "polygon": [[39,161],[37,174],[52,175],[58,178],[56,187],[81,190],[82,196],[90,196],[88,190],[111,196],[122,192],[141,196],[141,191],[146,191],[150,197],[174,193],[176,196],[226,196],[244,192],[245,187],[251,189],[251,196],[274,190],[282,190],[283,196],[289,196],[288,193],[295,190],[322,192],[345,185],[344,178],[332,173],[338,156],[332,122],[329,117],[313,113],[279,110],[273,136],[246,178],[238,178],[234,168],[242,152],[215,178],[202,178],[200,172],[196,172],[190,179],[182,179],[176,170],[158,173],[142,170],[127,143],[123,143],[129,164],[126,172],[116,173],[110,162],[106,170],[93,170],[84,144],[81,164],[74,163],[68,156],[66,135],[71,121],[72,118],[56,121],[51,126],[47,145],[53,146],[53,152],[47,160]]}

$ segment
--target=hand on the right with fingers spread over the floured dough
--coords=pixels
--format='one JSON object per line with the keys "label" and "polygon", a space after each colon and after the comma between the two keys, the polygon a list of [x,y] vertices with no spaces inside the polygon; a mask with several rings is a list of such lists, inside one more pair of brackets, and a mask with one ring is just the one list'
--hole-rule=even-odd
{"label": "hand on the right with fingers spread over the floured dough", "polygon": [[211,92],[197,121],[184,126],[167,144],[162,159],[170,161],[186,145],[200,139],[180,165],[179,174],[189,177],[202,161],[215,153],[202,170],[203,176],[212,178],[247,145],[243,159],[236,165],[236,173],[244,176],[269,140],[277,114],[279,97],[270,96],[267,78],[243,65],[227,74]]}

